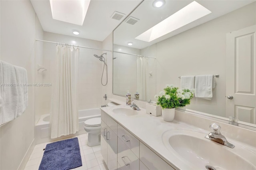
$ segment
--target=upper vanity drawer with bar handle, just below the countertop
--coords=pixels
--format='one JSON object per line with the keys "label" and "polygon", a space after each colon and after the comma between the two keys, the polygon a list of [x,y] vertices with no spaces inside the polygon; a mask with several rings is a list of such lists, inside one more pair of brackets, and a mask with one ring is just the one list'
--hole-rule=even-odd
{"label": "upper vanity drawer with bar handle, just below the countertop", "polygon": [[132,150],[132,152],[139,158],[140,142],[130,132],[118,124],[118,137]]}

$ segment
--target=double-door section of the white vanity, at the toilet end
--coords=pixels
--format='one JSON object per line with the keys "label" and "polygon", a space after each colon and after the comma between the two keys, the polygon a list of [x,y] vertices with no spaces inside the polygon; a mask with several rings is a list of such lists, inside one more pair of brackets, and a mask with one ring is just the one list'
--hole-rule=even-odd
{"label": "double-door section of the white vanity, at the toilet end", "polygon": [[117,169],[117,123],[106,113],[101,113],[101,154],[109,170]]}

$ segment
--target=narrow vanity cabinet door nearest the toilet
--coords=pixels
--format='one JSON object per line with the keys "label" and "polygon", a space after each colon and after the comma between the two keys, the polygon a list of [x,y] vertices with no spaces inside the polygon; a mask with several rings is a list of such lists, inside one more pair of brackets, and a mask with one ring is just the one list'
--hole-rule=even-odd
{"label": "narrow vanity cabinet door nearest the toilet", "polygon": [[104,161],[108,165],[108,154],[107,154],[108,153],[108,150],[107,150],[108,142],[107,142],[107,138],[106,138],[107,130],[108,130],[108,127],[107,127],[106,123],[103,120],[101,120],[100,150],[101,150],[101,154],[102,154]]}

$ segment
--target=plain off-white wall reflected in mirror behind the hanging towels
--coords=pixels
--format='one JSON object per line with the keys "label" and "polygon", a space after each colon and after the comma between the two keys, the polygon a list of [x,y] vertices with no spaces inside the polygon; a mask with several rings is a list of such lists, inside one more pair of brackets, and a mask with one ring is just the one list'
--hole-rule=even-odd
{"label": "plain off-white wall reflected in mirror behind the hanging towels", "polygon": [[157,43],[157,91],[180,86],[179,76],[219,74],[211,101],[192,99],[186,108],[225,117],[226,33],[256,24],[256,2]]}

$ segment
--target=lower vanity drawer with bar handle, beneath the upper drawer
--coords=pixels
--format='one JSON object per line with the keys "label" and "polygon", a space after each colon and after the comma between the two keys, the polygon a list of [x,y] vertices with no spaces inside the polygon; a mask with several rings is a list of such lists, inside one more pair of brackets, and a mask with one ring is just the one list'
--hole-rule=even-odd
{"label": "lower vanity drawer with bar handle, beneath the upper drawer", "polygon": [[139,158],[118,137],[117,161],[123,170],[139,170]]}

